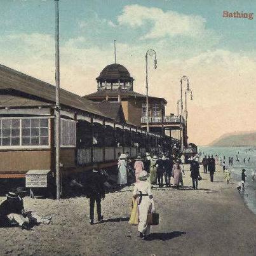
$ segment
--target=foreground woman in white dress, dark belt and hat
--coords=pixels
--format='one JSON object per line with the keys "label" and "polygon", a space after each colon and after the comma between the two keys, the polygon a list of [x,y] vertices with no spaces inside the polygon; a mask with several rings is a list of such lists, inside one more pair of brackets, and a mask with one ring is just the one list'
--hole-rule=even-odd
{"label": "foreground woman in white dress, dark belt and hat", "polygon": [[138,232],[140,238],[147,239],[150,232],[150,225],[147,224],[147,213],[155,211],[154,200],[151,192],[151,184],[147,182],[149,173],[140,172],[140,182],[135,184],[133,197],[138,200]]}

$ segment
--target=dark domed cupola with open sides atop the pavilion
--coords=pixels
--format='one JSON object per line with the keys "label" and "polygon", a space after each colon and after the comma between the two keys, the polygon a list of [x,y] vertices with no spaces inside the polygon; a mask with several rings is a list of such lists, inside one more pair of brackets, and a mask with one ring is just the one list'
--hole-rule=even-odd
{"label": "dark domed cupola with open sides atop the pavilion", "polygon": [[120,64],[107,65],[96,80],[98,82],[98,91],[118,89],[133,91],[134,79],[126,67]]}

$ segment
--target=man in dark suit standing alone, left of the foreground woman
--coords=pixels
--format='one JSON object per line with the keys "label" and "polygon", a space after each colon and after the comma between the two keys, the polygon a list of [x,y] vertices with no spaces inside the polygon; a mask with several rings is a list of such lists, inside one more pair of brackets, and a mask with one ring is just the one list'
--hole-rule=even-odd
{"label": "man in dark suit standing alone, left of the foreground woman", "polygon": [[98,222],[102,222],[101,199],[105,199],[104,177],[98,172],[98,165],[93,165],[93,170],[86,184],[86,197],[90,198],[90,224],[94,224],[94,205],[97,203]]}

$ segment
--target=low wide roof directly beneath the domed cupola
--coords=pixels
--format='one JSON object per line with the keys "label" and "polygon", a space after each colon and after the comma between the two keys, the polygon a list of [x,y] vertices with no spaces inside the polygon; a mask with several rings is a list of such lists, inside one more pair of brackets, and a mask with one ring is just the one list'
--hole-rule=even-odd
{"label": "low wide roof directly beneath the domed cupola", "polygon": [[[144,94],[137,93],[131,90],[125,90],[125,89],[96,91],[95,93],[84,95],[83,97],[92,100],[94,98],[105,98],[106,96],[118,97],[118,95],[120,95],[121,97],[146,98],[146,95]],[[165,98],[158,98],[158,97],[152,97],[152,96],[149,96],[149,98],[156,99],[156,100],[163,100],[165,103],[167,103]]]}

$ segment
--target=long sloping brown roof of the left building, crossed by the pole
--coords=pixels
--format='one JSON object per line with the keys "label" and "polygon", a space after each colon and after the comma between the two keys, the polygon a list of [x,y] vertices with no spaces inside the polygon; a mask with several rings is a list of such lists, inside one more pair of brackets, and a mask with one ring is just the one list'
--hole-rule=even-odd
{"label": "long sloping brown roof of the left building, crossed by the pole", "polygon": [[[22,91],[31,95],[33,100],[43,99],[55,103],[55,86],[4,65],[0,65],[0,90]],[[105,116],[90,100],[64,89],[60,89],[60,104]]]}

